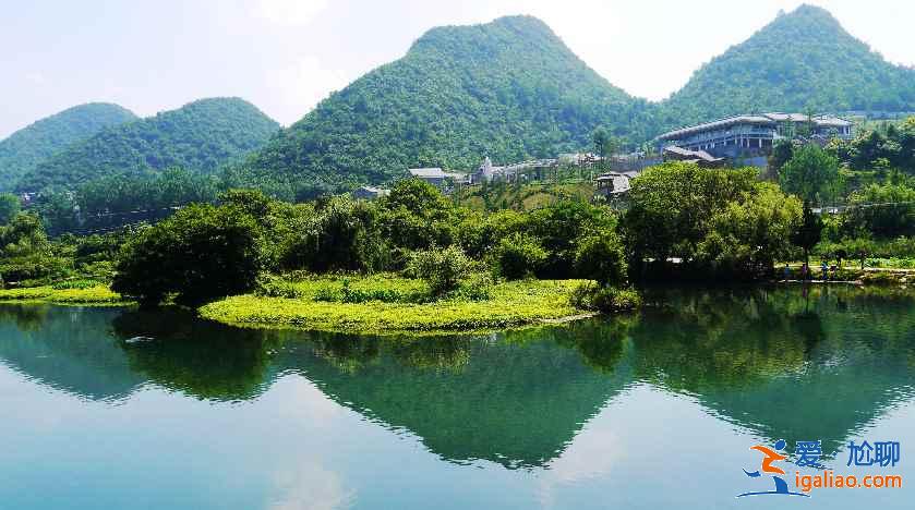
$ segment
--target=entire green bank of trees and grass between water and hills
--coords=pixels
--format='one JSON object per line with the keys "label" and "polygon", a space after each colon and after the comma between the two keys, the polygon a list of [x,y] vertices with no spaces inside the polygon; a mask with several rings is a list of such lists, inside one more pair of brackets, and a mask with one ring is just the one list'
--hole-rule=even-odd
{"label": "entire green bank of trees and grass between water and hills", "polygon": [[[907,286],[913,208],[814,214],[838,162],[792,150],[778,184],[753,168],[665,162],[622,205],[588,198],[574,177],[450,195],[404,179],[375,201],[229,190],[152,226],[57,238],[9,207],[0,302],[179,304],[245,328],[433,335],[619,314],[667,282]],[[866,190],[911,189],[891,179]]]}

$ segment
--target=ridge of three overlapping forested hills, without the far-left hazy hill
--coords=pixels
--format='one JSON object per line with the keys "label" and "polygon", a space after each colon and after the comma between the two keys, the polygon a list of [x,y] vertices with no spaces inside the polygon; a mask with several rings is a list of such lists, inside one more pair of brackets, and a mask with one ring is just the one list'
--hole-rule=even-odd
{"label": "ridge of three overlapping forested hills, without the far-left hazy hill", "polygon": [[821,8],[780,14],[659,102],[612,85],[540,20],[506,16],[430,29],[285,130],[241,99],[206,99],[33,158],[16,187],[228,166],[238,185],[308,198],[390,182],[408,168],[592,150],[599,126],[638,144],[737,113],[850,110],[915,111],[915,70],[887,62]]}

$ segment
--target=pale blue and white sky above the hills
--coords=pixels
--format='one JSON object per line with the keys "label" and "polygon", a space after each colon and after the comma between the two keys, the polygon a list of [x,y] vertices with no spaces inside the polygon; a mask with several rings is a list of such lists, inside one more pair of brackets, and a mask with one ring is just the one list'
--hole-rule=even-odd
{"label": "pale blue and white sky above the hills", "polygon": [[[88,101],[141,116],[240,96],[282,124],[401,57],[426,29],[545,21],[589,65],[661,99],[798,0],[0,0],[0,137]],[[889,60],[915,64],[906,0],[815,0]],[[663,63],[662,63],[663,62]]]}

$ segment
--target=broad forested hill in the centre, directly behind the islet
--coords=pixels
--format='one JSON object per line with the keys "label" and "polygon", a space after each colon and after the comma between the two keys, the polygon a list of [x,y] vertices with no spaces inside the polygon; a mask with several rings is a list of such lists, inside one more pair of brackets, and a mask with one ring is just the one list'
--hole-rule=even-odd
{"label": "broad forested hill in the centre, directly behind the islet", "polygon": [[318,186],[382,182],[408,167],[475,168],[589,147],[598,125],[648,135],[649,104],[588,68],[543,22],[502,17],[429,31],[249,160]]}

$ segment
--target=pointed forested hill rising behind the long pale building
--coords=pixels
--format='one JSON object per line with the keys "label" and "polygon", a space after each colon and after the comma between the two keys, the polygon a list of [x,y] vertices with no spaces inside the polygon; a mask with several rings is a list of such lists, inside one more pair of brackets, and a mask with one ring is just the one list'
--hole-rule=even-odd
{"label": "pointed forested hill rising behind the long pale building", "polygon": [[883,60],[828,11],[802,5],[700,68],[659,107],[666,126],[754,111],[912,111],[915,70]]}

